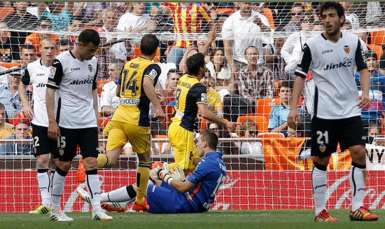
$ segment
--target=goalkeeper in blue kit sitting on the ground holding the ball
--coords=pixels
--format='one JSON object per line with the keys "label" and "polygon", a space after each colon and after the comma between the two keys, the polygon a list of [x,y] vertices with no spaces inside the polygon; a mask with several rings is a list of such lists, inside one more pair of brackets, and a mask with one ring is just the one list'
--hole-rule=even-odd
{"label": "goalkeeper in blue kit sitting on the ground holding the ball", "polygon": [[[148,184],[146,197],[150,213],[197,213],[208,211],[214,203],[215,195],[226,179],[226,167],[222,161],[222,153],[216,152],[218,137],[212,130],[202,130],[197,141],[198,154],[202,158],[193,174],[185,176],[183,169],[176,168],[167,172],[157,167],[151,172],[151,177],[157,185]],[[118,188],[109,193],[102,193],[101,202],[104,207],[116,206],[112,202],[132,202],[136,197],[137,183]],[[78,194],[89,202],[88,193],[78,188]],[[108,205],[106,205],[108,204]],[[125,205],[127,206],[127,205]],[[108,209],[108,208],[107,208]]]}

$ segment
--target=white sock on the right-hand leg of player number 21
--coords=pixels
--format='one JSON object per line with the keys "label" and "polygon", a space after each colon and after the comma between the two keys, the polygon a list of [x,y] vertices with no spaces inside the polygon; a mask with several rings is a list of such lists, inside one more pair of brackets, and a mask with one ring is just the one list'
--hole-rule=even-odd
{"label": "white sock on the right-hand leg of player number 21", "polygon": [[351,162],[350,185],[351,185],[351,211],[356,211],[363,206],[365,196],[366,165],[358,165]]}

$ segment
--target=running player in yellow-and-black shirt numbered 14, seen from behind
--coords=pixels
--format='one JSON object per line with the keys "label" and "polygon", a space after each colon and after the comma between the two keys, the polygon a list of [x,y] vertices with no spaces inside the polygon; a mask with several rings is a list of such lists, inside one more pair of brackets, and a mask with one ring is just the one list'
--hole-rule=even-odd
{"label": "running player in yellow-and-black shirt numbered 14, seen from behind", "polygon": [[130,141],[132,151],[137,153],[139,159],[137,200],[132,207],[136,211],[148,209],[144,195],[151,167],[150,102],[155,106],[158,120],[162,123],[165,121],[165,113],[155,92],[160,67],[152,61],[158,46],[159,40],[155,35],[144,35],[141,39],[141,56],[125,64],[116,89],[120,104],[104,130],[104,134],[109,134],[106,154],[98,156],[98,167],[111,167],[118,160],[123,146]]}

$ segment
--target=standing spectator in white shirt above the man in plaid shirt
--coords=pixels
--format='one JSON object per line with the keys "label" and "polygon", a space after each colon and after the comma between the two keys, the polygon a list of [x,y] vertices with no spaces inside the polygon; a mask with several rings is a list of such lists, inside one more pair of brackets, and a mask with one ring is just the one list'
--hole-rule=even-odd
{"label": "standing spectator in white shirt above the man in plaid shirt", "polygon": [[260,32],[270,30],[269,20],[265,15],[252,11],[251,2],[242,2],[238,5],[239,11],[230,15],[222,27],[226,59],[234,74],[247,64],[244,57],[246,48],[250,46],[258,48],[259,56],[262,57],[262,43],[265,38]]}

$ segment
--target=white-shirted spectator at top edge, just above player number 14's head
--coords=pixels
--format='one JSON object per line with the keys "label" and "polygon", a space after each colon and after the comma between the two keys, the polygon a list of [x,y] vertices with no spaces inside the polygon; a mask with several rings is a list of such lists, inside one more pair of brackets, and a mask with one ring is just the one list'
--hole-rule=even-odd
{"label": "white-shirted spectator at top edge, just above player number 14's head", "polygon": [[150,25],[155,23],[155,20],[151,20],[151,16],[144,14],[146,9],[145,2],[134,2],[132,4],[132,12],[125,13],[119,18],[118,30],[121,32],[139,33],[148,32]]}

